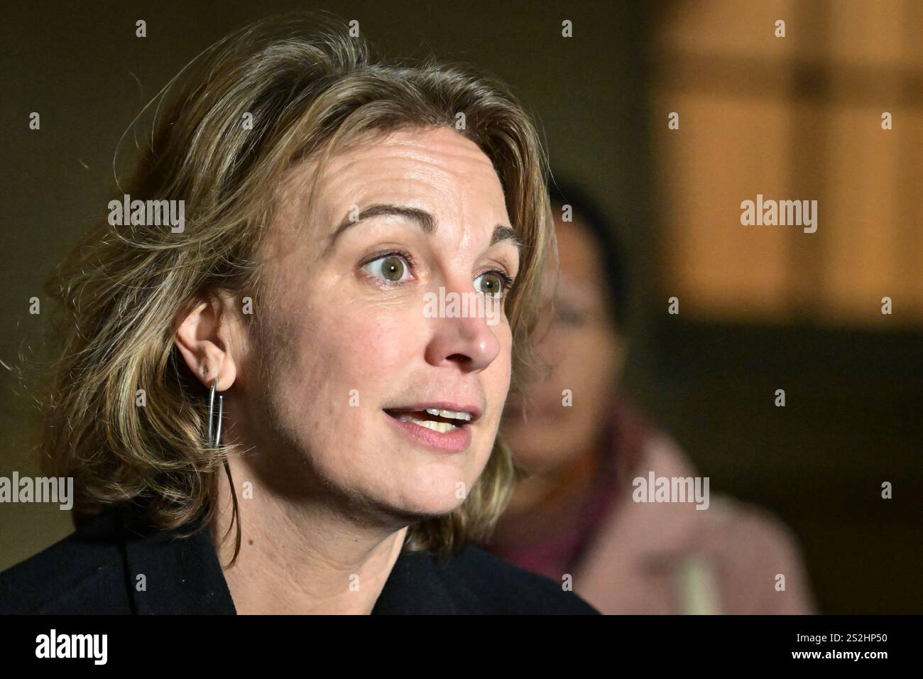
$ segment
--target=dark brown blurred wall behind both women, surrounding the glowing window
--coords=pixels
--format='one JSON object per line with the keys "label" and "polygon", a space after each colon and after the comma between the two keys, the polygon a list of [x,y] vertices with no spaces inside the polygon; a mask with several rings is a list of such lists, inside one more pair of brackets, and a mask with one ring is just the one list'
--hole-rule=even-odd
{"label": "dark brown blurred wall behind both women, surrounding the glowing window", "polygon": [[[105,214],[114,150],[140,108],[230,30],[307,6],[315,5],[5,10],[0,359],[12,363],[38,342],[43,317],[30,315],[29,298],[42,297],[54,262]],[[663,68],[654,67],[652,45],[677,4],[319,6],[358,19],[388,55],[431,51],[509,82],[537,119],[553,167],[623,225],[637,283],[628,393],[712,477],[713,490],[762,503],[794,529],[823,612],[923,610],[918,330],[665,314],[674,292],[660,208],[670,186],[654,154],[665,112],[652,96]],[[139,18],[144,39],[135,37]],[[565,18],[571,39],[561,37]],[[40,131],[28,127],[32,111],[42,115]],[[133,144],[129,135],[122,152]],[[779,384],[791,394],[785,409],[767,406]],[[28,401],[8,375],[0,387],[0,476],[37,474]],[[881,501],[881,480],[894,482],[893,501]],[[69,531],[56,508],[0,505],[0,568]]]}

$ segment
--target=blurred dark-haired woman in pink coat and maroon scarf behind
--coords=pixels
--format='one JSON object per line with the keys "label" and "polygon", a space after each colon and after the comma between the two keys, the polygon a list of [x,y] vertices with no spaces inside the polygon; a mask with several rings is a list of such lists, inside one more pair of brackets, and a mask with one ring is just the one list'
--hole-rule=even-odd
{"label": "blurred dark-haired woman in pink coat and maroon scarf behind", "polygon": [[604,613],[813,612],[796,542],[773,515],[726,497],[704,511],[633,502],[633,479],[697,471],[618,394],[629,285],[611,224],[580,189],[549,192],[560,272],[545,271],[537,337],[550,373],[508,401],[502,431],[524,475],[489,548],[572,576]]}

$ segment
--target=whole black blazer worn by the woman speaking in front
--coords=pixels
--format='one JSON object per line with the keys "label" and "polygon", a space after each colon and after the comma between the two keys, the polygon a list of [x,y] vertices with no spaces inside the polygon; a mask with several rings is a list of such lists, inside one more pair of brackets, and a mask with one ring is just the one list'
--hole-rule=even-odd
{"label": "whole black blazer worn by the woman speaking in front", "polygon": [[[140,525],[137,512],[110,510],[0,573],[0,613],[236,613],[209,530],[178,538]],[[469,545],[443,563],[429,552],[401,552],[372,613],[598,611],[553,580]]]}

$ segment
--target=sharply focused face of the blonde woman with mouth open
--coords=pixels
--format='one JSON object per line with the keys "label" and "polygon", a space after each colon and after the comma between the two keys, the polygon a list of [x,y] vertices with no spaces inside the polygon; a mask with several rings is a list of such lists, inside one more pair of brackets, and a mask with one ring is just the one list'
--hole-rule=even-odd
{"label": "sharply focused face of the blonde woman with mouth open", "polygon": [[[402,521],[450,512],[497,435],[511,334],[505,313],[433,317],[426,295],[471,300],[516,276],[497,174],[451,129],[402,131],[334,157],[306,220],[313,168],[289,177],[262,250],[275,292],[254,300],[238,370],[245,443],[278,491],[332,493]],[[356,219],[372,206],[423,216],[379,207]]]}

